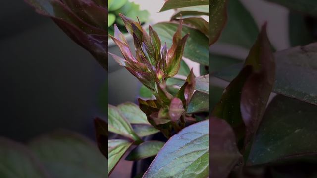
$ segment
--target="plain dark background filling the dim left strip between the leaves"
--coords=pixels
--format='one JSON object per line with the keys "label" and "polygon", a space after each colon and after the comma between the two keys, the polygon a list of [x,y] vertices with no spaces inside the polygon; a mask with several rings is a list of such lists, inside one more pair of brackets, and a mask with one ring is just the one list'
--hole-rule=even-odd
{"label": "plain dark background filling the dim left strip between the leaves", "polygon": [[0,27],[0,136],[27,141],[64,128],[94,138],[106,71],[23,0],[0,1]]}

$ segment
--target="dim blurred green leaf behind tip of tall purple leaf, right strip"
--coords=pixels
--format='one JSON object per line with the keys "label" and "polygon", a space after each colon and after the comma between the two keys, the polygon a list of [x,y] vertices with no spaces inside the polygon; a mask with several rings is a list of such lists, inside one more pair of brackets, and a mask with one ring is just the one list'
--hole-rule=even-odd
{"label": "dim blurred green leaf behind tip of tall purple leaf, right strip", "polygon": [[250,49],[258,34],[256,22],[240,0],[228,0],[228,22],[218,42]]}

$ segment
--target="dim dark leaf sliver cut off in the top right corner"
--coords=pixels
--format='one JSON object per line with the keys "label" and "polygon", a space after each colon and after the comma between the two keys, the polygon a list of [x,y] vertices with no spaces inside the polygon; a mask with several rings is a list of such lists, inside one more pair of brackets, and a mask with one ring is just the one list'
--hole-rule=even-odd
{"label": "dim dark leaf sliver cut off in the top right corner", "polygon": [[316,0],[267,0],[294,11],[317,17]]}

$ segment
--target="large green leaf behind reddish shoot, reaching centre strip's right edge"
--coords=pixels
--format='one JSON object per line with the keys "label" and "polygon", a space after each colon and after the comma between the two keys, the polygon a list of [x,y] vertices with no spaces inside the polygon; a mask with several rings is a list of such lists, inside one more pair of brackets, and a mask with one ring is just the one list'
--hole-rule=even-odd
{"label": "large green leaf behind reddish shoot, reaching centre strip's right edge", "polygon": [[[162,22],[153,26],[154,30],[159,34],[161,42],[166,42],[168,47],[172,45],[173,35],[178,24]],[[189,37],[185,44],[183,56],[198,62],[200,64],[209,65],[208,38],[200,31],[191,27],[183,26],[182,35],[189,33]],[[200,39],[200,40],[197,40]]]}

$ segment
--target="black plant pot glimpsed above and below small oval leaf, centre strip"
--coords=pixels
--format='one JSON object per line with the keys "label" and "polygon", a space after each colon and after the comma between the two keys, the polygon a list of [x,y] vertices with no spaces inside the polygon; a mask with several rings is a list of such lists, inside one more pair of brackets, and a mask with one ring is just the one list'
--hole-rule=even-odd
{"label": "black plant pot glimpsed above and below small oval leaf, centre strip", "polygon": [[[166,142],[167,138],[162,133],[157,133],[145,137],[144,140],[157,140]],[[133,162],[131,178],[142,178],[143,174],[147,171],[154,158],[155,156]]]}

